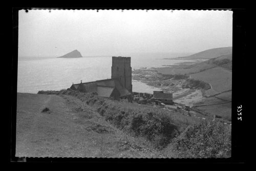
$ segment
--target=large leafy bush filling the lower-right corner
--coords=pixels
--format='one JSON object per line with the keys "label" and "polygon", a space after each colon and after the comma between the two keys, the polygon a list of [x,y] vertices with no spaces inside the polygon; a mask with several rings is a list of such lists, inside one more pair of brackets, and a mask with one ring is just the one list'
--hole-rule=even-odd
{"label": "large leafy bush filling the lower-right corner", "polygon": [[231,127],[220,122],[190,125],[173,140],[178,157],[230,157]]}

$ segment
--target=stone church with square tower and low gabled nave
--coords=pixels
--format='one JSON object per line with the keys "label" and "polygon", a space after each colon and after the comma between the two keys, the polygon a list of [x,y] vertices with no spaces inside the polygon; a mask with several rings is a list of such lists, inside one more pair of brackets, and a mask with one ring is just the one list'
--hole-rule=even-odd
{"label": "stone church with square tower and low gabled nave", "polygon": [[72,84],[72,90],[83,93],[96,92],[100,97],[113,99],[132,99],[132,67],[131,57],[112,57],[111,79]]}

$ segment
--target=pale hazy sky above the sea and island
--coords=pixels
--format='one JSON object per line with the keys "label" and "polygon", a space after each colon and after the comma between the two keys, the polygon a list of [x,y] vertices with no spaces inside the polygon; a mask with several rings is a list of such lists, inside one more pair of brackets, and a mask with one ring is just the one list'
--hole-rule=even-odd
{"label": "pale hazy sky above the sea and island", "polygon": [[18,56],[197,53],[232,46],[232,11],[20,10]]}

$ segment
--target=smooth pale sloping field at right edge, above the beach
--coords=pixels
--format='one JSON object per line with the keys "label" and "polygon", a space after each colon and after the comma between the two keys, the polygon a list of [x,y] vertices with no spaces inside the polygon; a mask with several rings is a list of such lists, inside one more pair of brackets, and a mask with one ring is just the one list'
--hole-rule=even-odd
{"label": "smooth pale sloping field at right edge, above the beach", "polygon": [[[209,70],[205,70],[200,73],[190,74],[191,78],[208,82],[211,88],[221,93],[232,89],[232,72],[223,68],[216,67]],[[208,95],[213,95],[212,91],[206,91]]]}

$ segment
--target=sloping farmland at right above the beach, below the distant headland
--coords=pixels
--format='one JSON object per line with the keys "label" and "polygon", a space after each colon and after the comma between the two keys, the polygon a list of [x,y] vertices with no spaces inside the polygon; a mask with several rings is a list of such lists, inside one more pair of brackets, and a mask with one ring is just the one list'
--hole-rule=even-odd
{"label": "sloping farmland at right above the beach, below the distant headland", "polygon": [[165,67],[156,69],[161,74],[188,75],[190,78],[210,84],[206,96],[219,94],[232,89],[232,54],[221,55],[194,65]]}

